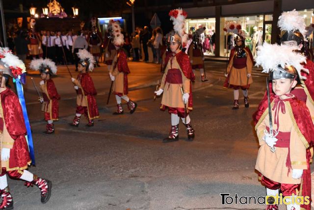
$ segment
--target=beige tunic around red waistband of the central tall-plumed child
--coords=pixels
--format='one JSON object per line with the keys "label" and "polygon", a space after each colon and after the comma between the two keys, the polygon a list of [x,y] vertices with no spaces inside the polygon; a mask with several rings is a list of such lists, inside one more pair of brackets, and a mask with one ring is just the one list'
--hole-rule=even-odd
{"label": "beige tunic around red waistband of the central tall-plumed child", "polygon": [[[163,74],[162,79],[161,79],[160,89],[163,90],[161,105],[165,105],[167,107],[173,107],[173,108],[184,108],[181,87],[183,87],[184,93],[189,93],[190,92],[190,80],[184,76],[176,57],[173,57],[173,58],[174,59],[172,61],[172,67],[171,67],[171,62],[170,62],[171,58],[170,58],[166,66],[165,73]],[[170,84],[166,82],[168,70],[171,68],[180,69],[183,84]],[[189,108],[189,109],[192,109],[192,108]]]}

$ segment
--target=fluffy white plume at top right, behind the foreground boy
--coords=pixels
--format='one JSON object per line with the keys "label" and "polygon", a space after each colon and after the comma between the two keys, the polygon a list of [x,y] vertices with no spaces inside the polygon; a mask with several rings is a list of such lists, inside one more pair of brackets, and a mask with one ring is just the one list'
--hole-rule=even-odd
{"label": "fluffy white plume at top right, behind the foreground boy", "polygon": [[298,11],[283,12],[278,20],[278,27],[280,30],[299,30],[303,36],[306,34],[306,25],[303,16],[299,15]]}

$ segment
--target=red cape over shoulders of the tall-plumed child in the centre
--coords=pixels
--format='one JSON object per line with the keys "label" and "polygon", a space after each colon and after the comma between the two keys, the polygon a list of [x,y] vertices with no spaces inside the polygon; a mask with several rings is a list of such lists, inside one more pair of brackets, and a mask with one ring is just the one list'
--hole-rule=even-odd
{"label": "red cape over shoulders of the tall-plumed child in the centre", "polygon": [[[168,61],[170,60],[172,53],[169,53],[165,58],[165,66],[167,66]],[[188,98],[188,107],[193,107],[193,97],[192,97],[192,81],[195,80],[195,75],[192,71],[192,66],[188,55],[180,51],[176,54],[176,59],[180,65],[180,68],[184,74],[184,76],[191,80],[190,82],[190,97]]]}

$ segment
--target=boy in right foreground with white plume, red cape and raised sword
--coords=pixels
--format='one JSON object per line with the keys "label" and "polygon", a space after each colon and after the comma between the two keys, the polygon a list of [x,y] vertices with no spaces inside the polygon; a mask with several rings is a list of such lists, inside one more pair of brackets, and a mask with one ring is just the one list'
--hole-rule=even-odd
{"label": "boy in right foreground with white plume, red cape and raised sword", "polygon": [[[309,148],[314,144],[314,125],[306,104],[291,93],[300,81],[300,63],[305,60],[290,46],[267,43],[258,48],[256,58],[263,72],[270,73],[273,92],[270,90],[270,101],[264,98],[253,116],[260,144],[255,169],[268,196],[279,195],[281,189],[285,201],[290,202],[287,210],[311,209],[310,204],[295,202],[297,196],[311,198]],[[277,204],[268,204],[267,210],[277,210]]]}

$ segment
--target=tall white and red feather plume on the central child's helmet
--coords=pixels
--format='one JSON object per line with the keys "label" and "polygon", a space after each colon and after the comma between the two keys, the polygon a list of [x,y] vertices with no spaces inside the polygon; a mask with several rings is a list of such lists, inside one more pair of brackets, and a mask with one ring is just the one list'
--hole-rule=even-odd
{"label": "tall white and red feather plume on the central child's helmet", "polygon": [[173,9],[169,12],[170,20],[173,21],[173,29],[180,35],[181,43],[185,47],[188,40],[188,34],[184,31],[184,22],[187,13],[182,9]]}

